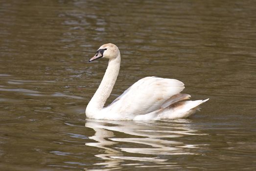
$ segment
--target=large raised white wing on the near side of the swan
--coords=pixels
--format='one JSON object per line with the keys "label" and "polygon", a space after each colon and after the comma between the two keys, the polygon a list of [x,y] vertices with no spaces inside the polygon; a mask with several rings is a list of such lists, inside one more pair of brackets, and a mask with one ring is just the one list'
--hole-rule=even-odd
{"label": "large raised white wing on the near side of the swan", "polygon": [[149,113],[159,109],[166,100],[183,89],[184,84],[175,79],[145,77],[130,86],[108,108],[120,115]]}

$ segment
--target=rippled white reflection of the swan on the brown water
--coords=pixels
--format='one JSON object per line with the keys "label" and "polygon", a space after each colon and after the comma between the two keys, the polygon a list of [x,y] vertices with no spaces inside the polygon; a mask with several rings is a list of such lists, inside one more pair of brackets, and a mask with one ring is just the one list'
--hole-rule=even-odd
{"label": "rippled white reflection of the swan on the brown water", "polygon": [[[196,133],[197,130],[189,128],[189,120],[185,119],[177,119],[171,123],[170,121],[134,122],[87,119],[85,126],[93,128],[95,134],[89,138],[96,141],[95,143],[86,143],[86,145],[104,150],[104,153],[95,156],[105,161],[95,163],[95,165],[105,165],[110,170],[111,168],[120,168],[124,160],[134,161],[135,163],[131,165],[136,166],[142,165],[143,162],[153,162],[156,164],[155,167],[160,167],[159,164],[161,167],[163,165],[170,167],[167,159],[161,158],[160,155],[197,155],[197,153],[190,152],[189,149],[198,148],[199,145],[185,144],[177,141],[177,138],[187,135],[206,135]],[[116,138],[119,133],[122,133],[122,137]],[[175,141],[170,140],[174,138],[176,138]],[[146,155],[141,156],[141,154]],[[136,163],[136,161],[140,161],[140,163]]]}

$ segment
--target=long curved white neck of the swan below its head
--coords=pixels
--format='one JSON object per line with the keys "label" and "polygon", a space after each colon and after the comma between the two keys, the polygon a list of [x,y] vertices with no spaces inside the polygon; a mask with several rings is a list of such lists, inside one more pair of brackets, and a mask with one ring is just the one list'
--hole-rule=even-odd
{"label": "long curved white neck of the swan below its head", "polygon": [[120,52],[118,53],[118,56],[115,59],[109,60],[109,64],[104,74],[104,77],[97,91],[93,95],[93,98],[86,107],[87,116],[93,115],[93,113],[98,112],[104,107],[106,100],[108,99],[115,85],[116,78],[120,68],[120,62]]}

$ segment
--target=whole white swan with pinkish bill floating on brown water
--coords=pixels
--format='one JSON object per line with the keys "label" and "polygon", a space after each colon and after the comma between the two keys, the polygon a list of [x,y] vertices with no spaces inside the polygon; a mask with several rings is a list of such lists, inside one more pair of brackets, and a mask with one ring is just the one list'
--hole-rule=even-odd
{"label": "whole white swan with pinkish bill floating on brown water", "polygon": [[180,93],[185,88],[181,81],[145,77],[104,107],[116,82],[121,55],[115,44],[107,43],[99,47],[89,62],[100,58],[108,59],[109,63],[98,89],[86,107],[87,118],[140,121],[187,118],[209,100],[184,101],[190,95]]}

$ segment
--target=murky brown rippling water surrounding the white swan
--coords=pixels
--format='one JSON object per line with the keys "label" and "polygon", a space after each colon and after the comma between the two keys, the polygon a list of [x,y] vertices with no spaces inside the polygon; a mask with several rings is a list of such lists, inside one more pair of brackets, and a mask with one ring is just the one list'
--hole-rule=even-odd
{"label": "murky brown rippling water surrounding the white swan", "polygon": [[[190,119],[86,120],[107,61],[108,103],[145,76],[179,79]],[[0,0],[0,170],[256,170],[254,0]]]}

